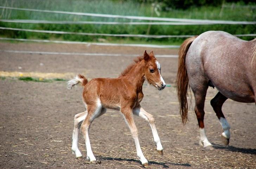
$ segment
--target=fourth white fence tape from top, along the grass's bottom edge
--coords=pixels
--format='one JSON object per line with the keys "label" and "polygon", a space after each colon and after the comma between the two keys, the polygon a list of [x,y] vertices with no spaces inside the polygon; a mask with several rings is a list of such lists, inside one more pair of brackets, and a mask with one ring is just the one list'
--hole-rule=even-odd
{"label": "fourth white fence tape from top, along the grass's bottom edge", "polygon": [[122,44],[122,43],[96,43],[96,42],[77,42],[77,41],[54,41],[54,40],[39,40],[39,39],[20,39],[20,38],[6,38],[0,37],[0,40],[12,41],[28,41],[28,42],[51,42],[51,43],[68,43],[68,44],[86,44],[102,45],[102,46],[128,46],[128,47],[146,47],[146,48],[179,48],[179,45],[155,45],[155,44]]}

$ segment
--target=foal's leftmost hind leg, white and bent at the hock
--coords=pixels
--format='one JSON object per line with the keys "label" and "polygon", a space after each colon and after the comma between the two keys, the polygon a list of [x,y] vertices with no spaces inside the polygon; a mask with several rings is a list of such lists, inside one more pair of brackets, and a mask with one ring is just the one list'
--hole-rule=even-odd
{"label": "foal's leftmost hind leg, white and bent at the hock", "polygon": [[87,115],[87,111],[78,113],[74,117],[74,130],[72,135],[72,153],[76,155],[76,157],[82,157],[82,154],[80,150],[78,149],[78,134],[79,134],[79,128],[84,121],[85,117]]}

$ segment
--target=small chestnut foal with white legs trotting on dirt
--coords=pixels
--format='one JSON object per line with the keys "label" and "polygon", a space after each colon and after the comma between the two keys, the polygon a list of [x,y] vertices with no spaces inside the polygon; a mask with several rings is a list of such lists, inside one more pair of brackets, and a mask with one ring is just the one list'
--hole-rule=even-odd
{"label": "small chestnut foal with white legs trotting on dirt", "polygon": [[144,56],[138,57],[134,61],[135,63],[129,65],[118,78],[95,78],[88,82],[84,76],[78,75],[68,81],[68,89],[71,89],[72,86],[78,83],[84,86],[83,101],[87,108],[87,111],[75,115],[72,151],[76,157],[82,156],[78,149],[78,132],[81,127],[87,149],[87,159],[91,163],[97,163],[91,150],[89,129],[92,121],[104,114],[106,108],[120,110],[122,112],[132,133],[137,156],[144,167],[149,167],[148,161],[141,151],[138,130],[134,123],[133,114],[149,122],[156,143],[156,149],[162,155],[163,148],[156,131],[153,115],[147,113],[140,106],[143,98],[142,85],[145,79],[158,90],[165,88],[165,81],[161,76],[161,65],[154,57],[153,51],[149,55],[145,51]]}

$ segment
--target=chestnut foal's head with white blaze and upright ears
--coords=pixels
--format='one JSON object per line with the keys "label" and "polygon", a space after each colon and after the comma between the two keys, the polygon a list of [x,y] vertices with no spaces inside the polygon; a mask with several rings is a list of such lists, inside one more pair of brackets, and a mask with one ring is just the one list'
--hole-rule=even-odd
{"label": "chestnut foal's head with white blaze and upright ears", "polygon": [[144,52],[145,67],[144,73],[148,80],[148,83],[155,86],[158,90],[163,90],[165,88],[165,81],[161,76],[161,65],[156,60],[153,51],[147,54]]}

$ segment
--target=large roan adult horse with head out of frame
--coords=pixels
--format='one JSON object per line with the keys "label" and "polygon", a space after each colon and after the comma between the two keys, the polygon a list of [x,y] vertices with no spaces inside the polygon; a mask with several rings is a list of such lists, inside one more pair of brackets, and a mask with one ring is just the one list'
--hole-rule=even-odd
{"label": "large roan adult horse with head out of frame", "polygon": [[199,145],[213,149],[204,129],[204,102],[208,86],[219,91],[211,100],[222,126],[222,142],[229,144],[230,126],[222,113],[226,99],[256,103],[256,39],[244,41],[223,31],[207,31],[188,38],[179,50],[177,91],[183,124],[187,121],[187,88],[195,99]]}

